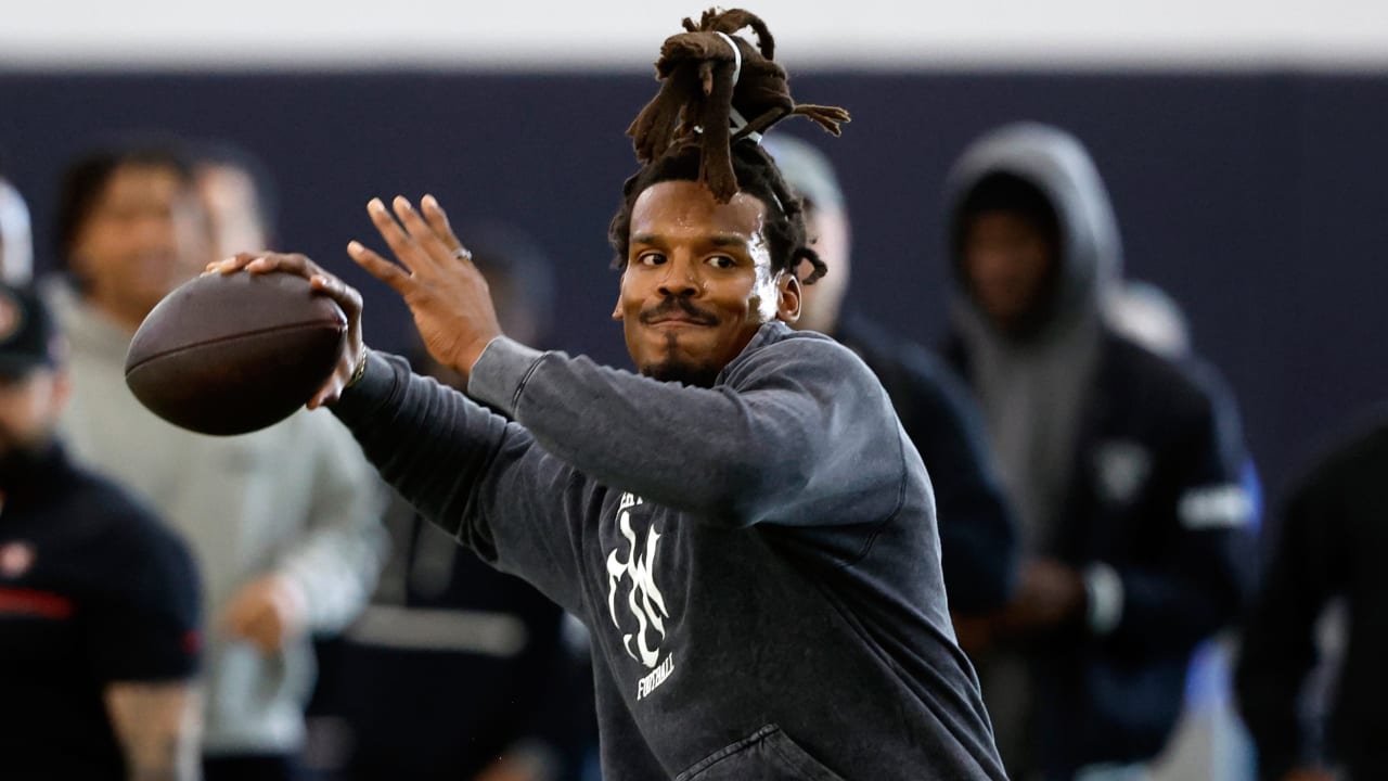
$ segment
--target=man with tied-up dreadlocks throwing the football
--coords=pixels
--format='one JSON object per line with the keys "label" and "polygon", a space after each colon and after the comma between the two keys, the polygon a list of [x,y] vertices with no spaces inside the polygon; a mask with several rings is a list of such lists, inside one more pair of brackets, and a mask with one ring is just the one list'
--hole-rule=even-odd
{"label": "man with tied-up dreadlocks throwing the football", "polygon": [[[744,24],[759,51],[729,35]],[[843,115],[795,107],[755,17],[687,25],[663,51],[704,53],[680,92],[697,104],[708,75],[722,121],[769,124],[755,104],[727,111],[738,69],[756,79],[738,93],[780,107],[772,120]],[[608,781],[1001,780],[920,456],[856,356],[787,327],[795,270],[824,265],[775,164],[750,132],[713,132],[718,115],[669,145],[634,133],[651,156],[611,235],[613,317],[640,374],[501,335],[437,202],[371,203],[401,265],[359,243],[351,257],[404,297],[468,393],[515,422],[368,353],[359,293],[308,258],[214,268],[297,272],[344,307],[348,346],[311,403],[428,518],[589,625]]]}

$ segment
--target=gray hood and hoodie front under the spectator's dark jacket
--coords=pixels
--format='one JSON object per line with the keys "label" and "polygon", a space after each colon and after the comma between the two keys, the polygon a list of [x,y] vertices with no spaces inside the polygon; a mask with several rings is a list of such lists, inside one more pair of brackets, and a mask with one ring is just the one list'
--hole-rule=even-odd
{"label": "gray hood and hoodie front under the spectator's dark jacket", "polygon": [[1098,359],[1101,303],[1120,275],[1122,250],[1108,192],[1080,142],[1065,131],[1023,122],[992,131],[965,150],[945,193],[949,233],[959,208],[990,174],[1037,186],[1060,227],[1060,279],[1045,318],[1024,340],[994,328],[966,290],[960,258],[951,314],[969,354],[991,450],[1022,521],[1023,548],[1045,548],[1069,481],[1084,389]]}

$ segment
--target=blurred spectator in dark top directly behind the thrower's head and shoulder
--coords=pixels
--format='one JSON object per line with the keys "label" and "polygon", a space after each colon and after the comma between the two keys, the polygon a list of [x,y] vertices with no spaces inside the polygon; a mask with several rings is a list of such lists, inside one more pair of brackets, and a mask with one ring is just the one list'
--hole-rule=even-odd
{"label": "blurred spectator in dark top directly behind the thrower's head and shoulder", "polygon": [[983,418],[969,389],[923,347],[858,313],[844,313],[852,274],[851,227],[838,176],[823,153],[791,136],[763,142],[805,200],[805,224],[829,274],[805,285],[795,328],[844,343],[877,375],[936,492],[945,591],[954,613],[997,610],[1016,578],[1016,529],[988,466]]}

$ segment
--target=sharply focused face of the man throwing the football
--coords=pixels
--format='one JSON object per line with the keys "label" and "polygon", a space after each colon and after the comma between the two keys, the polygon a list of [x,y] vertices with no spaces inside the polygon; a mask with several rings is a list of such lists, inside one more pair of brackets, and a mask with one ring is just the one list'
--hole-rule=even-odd
{"label": "sharply focused face of the man throwing the football", "polygon": [[712,385],[763,324],[799,314],[799,282],[772,271],[765,206],[701,183],[661,182],[632,208],[615,320],[641,374]]}

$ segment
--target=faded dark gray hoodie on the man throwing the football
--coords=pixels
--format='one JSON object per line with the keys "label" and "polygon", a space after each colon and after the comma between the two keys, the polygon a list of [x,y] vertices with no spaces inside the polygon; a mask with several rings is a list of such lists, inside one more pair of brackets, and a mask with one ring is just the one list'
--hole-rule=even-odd
{"label": "faded dark gray hoodie on the man throwing the football", "polygon": [[608,781],[998,780],[934,500],[866,365],[762,327],[713,388],[498,338],[465,396],[333,411],[426,517],[591,630]]}

